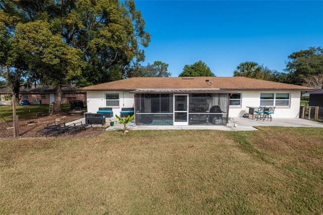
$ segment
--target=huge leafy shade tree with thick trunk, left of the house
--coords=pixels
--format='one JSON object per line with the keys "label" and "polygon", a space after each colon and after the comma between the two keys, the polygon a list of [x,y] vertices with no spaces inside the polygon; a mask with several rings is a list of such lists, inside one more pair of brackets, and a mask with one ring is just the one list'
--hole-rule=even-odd
{"label": "huge leafy shade tree with thick trunk, left of the house", "polygon": [[18,20],[13,27],[5,24],[23,48],[13,55],[23,55],[28,70],[59,88],[122,78],[127,65],[144,60],[140,47],[150,41],[133,0],[0,0],[0,11]]}

